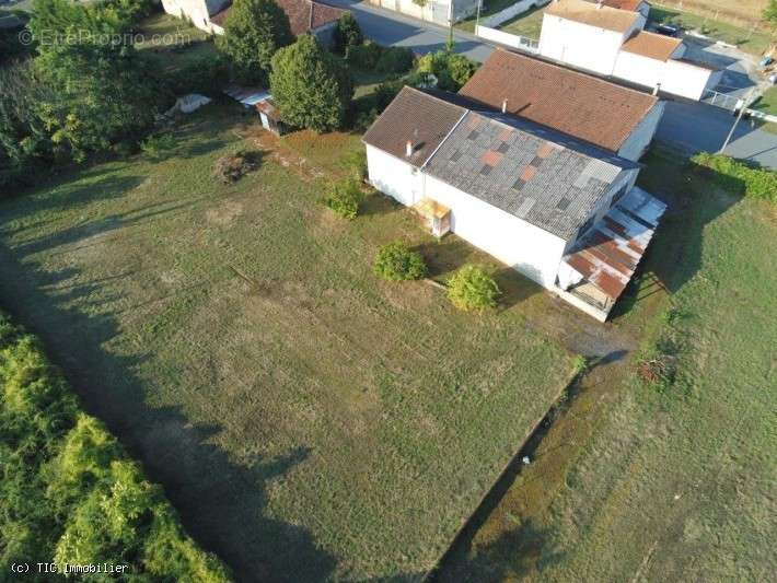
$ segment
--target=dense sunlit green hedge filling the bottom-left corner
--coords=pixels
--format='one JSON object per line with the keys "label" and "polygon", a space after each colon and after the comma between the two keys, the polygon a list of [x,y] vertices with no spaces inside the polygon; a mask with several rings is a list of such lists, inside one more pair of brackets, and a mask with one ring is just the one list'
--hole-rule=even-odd
{"label": "dense sunlit green hedge filling the bottom-left corner", "polygon": [[[83,412],[38,340],[0,313],[1,569],[126,565],[120,581],[229,581],[185,533],[162,489]],[[104,575],[91,575],[106,579]]]}

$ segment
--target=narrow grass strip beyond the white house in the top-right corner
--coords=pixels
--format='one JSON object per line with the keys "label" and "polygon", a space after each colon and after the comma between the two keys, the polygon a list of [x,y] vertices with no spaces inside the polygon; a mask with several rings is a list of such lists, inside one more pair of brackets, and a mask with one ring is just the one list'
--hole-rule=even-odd
{"label": "narrow grass strip beyond the white house in the top-right corner", "polygon": [[777,40],[774,34],[759,28],[751,31],[728,22],[666,7],[653,5],[650,9],[650,22],[657,24],[673,23],[689,31],[699,31],[706,36],[735,45],[741,50],[755,56],[763,55]]}

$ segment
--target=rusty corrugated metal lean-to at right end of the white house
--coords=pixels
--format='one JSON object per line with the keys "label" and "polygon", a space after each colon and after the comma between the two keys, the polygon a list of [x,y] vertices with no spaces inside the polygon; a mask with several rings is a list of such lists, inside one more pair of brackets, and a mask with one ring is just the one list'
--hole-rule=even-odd
{"label": "rusty corrugated metal lean-to at right end of the white house", "polygon": [[593,285],[600,292],[599,307],[608,312],[631,280],[665,210],[666,205],[634,187],[564,256],[560,287],[575,293],[576,288]]}

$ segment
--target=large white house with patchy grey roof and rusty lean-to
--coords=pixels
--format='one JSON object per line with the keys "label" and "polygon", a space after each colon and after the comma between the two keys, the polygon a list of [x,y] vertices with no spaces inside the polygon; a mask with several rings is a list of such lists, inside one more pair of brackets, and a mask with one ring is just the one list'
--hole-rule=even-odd
{"label": "large white house with patchy grey roof and rusty lean-to", "polygon": [[664,209],[639,165],[462,101],[404,88],[363,137],[370,182],[606,319]]}

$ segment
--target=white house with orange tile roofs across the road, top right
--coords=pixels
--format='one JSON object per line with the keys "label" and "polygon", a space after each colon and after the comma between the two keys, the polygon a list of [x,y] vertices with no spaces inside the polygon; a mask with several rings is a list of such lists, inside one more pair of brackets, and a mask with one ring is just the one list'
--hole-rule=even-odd
{"label": "white house with orange tile roofs across the road, top right", "polygon": [[701,98],[720,82],[722,71],[685,60],[681,39],[643,31],[649,8],[630,0],[554,0],[543,15],[540,55],[654,91]]}

